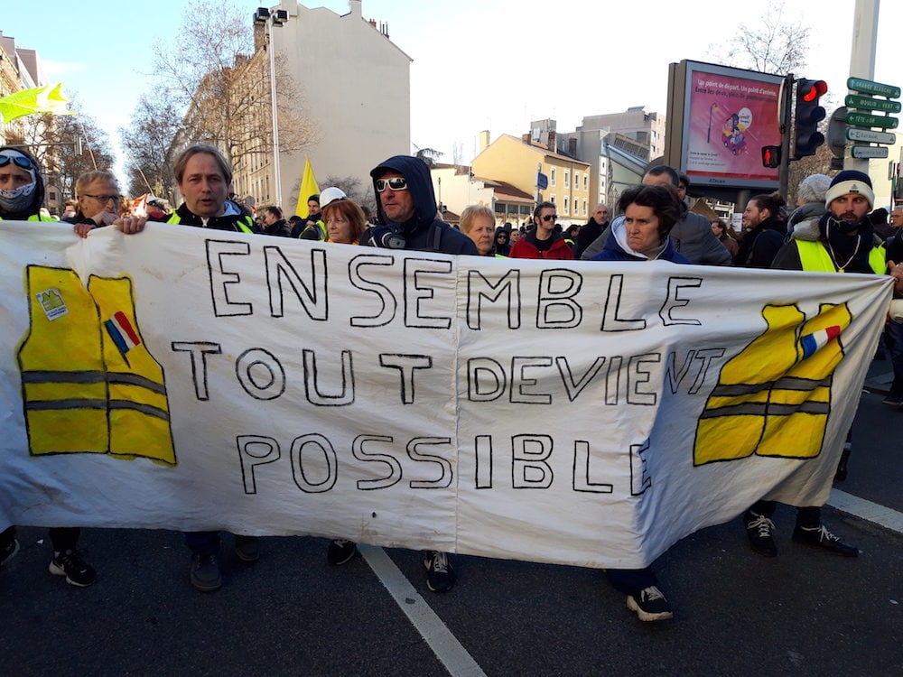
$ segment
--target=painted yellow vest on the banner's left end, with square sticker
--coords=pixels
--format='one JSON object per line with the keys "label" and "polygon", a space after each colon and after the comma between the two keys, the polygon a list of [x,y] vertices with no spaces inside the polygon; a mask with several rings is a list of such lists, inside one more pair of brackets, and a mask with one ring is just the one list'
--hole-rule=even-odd
{"label": "painted yellow vest on the banner's left end, with square sticker", "polygon": [[144,346],[132,281],[29,265],[18,352],[33,455],[101,453],[175,465],[163,368]]}

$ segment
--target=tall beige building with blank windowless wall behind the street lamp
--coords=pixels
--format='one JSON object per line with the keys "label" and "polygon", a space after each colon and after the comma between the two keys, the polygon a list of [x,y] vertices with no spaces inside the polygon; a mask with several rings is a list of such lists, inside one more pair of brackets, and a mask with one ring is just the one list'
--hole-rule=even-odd
{"label": "tall beige building with blank windowless wall behind the street lamp", "polygon": [[[286,0],[269,11],[271,17],[284,12],[284,21],[257,23],[251,60],[265,60],[265,68],[271,68],[272,34],[277,96],[279,74],[291,74],[300,94],[293,115],[310,125],[309,144],[278,153],[282,207],[291,214],[306,159],[325,188],[323,180],[330,175],[366,184],[379,162],[411,152],[411,58],[389,39],[386,23],[364,18],[361,0],[349,0],[349,13],[341,15]],[[259,96],[268,98],[268,78],[263,85]],[[291,134],[284,125],[280,118],[279,134]],[[238,195],[253,196],[257,205],[275,204],[275,162],[275,153],[260,153],[259,162],[237,167]]]}

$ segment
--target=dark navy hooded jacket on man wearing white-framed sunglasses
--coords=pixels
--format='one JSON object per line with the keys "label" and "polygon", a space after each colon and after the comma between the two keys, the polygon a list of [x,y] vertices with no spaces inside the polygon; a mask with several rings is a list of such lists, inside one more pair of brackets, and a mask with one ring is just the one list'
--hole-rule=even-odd
{"label": "dark navy hooded jacket on man wearing white-framed sunglasses", "polygon": [[[405,223],[395,224],[386,218],[377,192],[377,178],[387,170],[398,172],[407,180],[407,190],[414,199],[414,217]],[[360,238],[361,245],[389,246],[397,249],[415,249],[421,252],[442,254],[479,255],[470,237],[436,218],[436,197],[433,180],[426,162],[411,155],[396,155],[381,162],[370,172],[373,190],[377,196],[377,212],[380,226],[368,228]],[[391,190],[386,188],[386,190]],[[386,237],[388,235],[388,237]],[[404,243],[402,245],[402,242]]]}

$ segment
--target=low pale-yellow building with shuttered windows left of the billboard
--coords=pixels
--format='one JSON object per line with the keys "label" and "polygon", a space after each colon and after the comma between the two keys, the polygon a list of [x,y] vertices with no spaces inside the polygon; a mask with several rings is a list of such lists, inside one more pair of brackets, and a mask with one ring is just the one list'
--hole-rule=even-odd
{"label": "low pale-yellow building with shuttered windows left of the billboard", "polygon": [[[531,135],[517,138],[502,134],[491,144],[489,133],[480,134],[482,150],[473,159],[477,176],[504,181],[517,190],[532,194],[538,201],[554,202],[559,223],[585,223],[590,218],[590,165],[554,151],[554,133],[546,144],[531,141]],[[537,176],[548,180],[545,189],[537,187]]]}

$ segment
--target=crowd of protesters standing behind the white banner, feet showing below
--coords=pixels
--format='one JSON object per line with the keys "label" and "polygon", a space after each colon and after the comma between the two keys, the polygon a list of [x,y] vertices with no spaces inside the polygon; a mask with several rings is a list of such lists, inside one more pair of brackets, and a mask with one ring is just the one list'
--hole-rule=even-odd
{"label": "crowd of protesters standing behind the white banner, feet showing below", "polygon": [[[688,209],[688,181],[673,168],[650,169],[641,183],[625,190],[617,204],[617,218],[599,204],[581,227],[563,230],[557,223],[554,202],[536,205],[529,227],[498,226],[485,206],[470,206],[461,214],[460,227],[452,227],[437,212],[429,168],[414,157],[397,155],[370,172],[377,214],[371,217],[338,187],[308,199],[305,218],[284,218],[278,206],[252,214],[231,199],[232,170],[215,147],[191,145],[176,159],[173,173],[183,197],[178,209],[148,204],[147,216],[135,216],[124,205],[115,176],[88,172],[76,182],[76,198],[67,203],[64,220],[76,234],[87,237],[98,227],[116,227],[126,235],[144,229],[148,219],[216,230],[294,237],[346,246],[377,246],[448,255],[491,256],[597,262],[650,262],[668,264],[735,265],[744,268],[781,268],[819,272],[890,274],[895,293],[903,295],[903,241],[887,243],[877,235],[870,215],[874,192],[868,175],[843,171],[832,178],[808,177],[800,184],[799,205],[787,215],[777,194],[749,199],[742,217],[743,232],[735,234],[721,219],[709,219]],[[0,218],[50,220],[42,214],[44,187],[38,164],[23,150],[0,147]],[[153,216],[151,213],[153,211]],[[903,208],[893,209],[891,223],[903,227]],[[886,403],[903,406],[903,325],[888,331],[894,361],[894,384]],[[846,477],[852,450],[848,437],[835,479]],[[776,505],[759,500],[743,517],[752,549],[766,557],[777,555],[771,516]],[[76,586],[88,586],[96,572],[77,548],[79,529],[51,528],[50,571]],[[821,519],[821,506],[797,509],[792,540],[847,557],[859,554],[843,543]],[[185,533],[191,551],[191,585],[200,591],[219,589],[220,533]],[[18,550],[15,527],[0,533],[0,564]],[[236,534],[239,561],[251,564],[260,556],[260,539]],[[327,561],[340,565],[356,554],[356,544],[334,539]],[[445,592],[455,584],[451,556],[424,552],[426,586]],[[670,618],[672,607],[650,567],[642,570],[606,570],[610,583],[627,597],[628,607],[645,621]]]}

